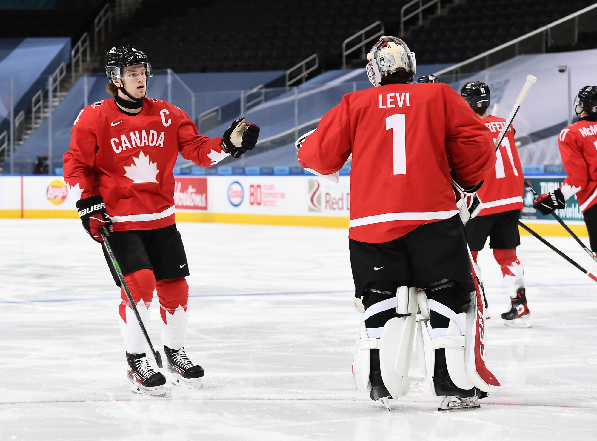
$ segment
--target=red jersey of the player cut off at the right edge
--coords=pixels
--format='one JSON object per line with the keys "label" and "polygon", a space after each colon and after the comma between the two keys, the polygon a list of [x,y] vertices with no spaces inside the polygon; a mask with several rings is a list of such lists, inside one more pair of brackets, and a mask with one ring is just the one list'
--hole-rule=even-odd
{"label": "red jersey of the player cut off at the right edge", "polygon": [[[578,121],[559,134],[559,150],[562,164],[568,176],[562,183],[580,188],[576,193],[580,210],[584,213],[597,203],[597,122]],[[570,188],[569,187],[569,188]]]}

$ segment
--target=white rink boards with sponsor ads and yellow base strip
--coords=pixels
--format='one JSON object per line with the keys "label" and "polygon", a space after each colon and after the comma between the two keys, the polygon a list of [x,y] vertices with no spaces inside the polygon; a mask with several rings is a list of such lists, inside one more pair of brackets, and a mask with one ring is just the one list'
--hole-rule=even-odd
{"label": "white rink boards with sponsor ads and yellow base strip", "polygon": [[[537,192],[558,188],[565,176],[529,176]],[[318,176],[175,176],[177,222],[257,223],[348,228],[350,176],[334,183]],[[77,218],[62,176],[0,176],[0,218]],[[542,235],[564,229],[532,207],[525,190],[521,219]],[[587,236],[576,197],[558,210],[578,235]],[[527,232],[522,231],[522,234]]]}

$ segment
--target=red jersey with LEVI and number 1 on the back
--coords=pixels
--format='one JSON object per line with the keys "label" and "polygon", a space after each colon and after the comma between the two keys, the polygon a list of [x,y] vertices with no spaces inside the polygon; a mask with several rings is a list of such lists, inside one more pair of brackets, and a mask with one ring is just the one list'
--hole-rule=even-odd
{"label": "red jersey with LEVI and number 1 on the back", "polygon": [[458,213],[460,185],[496,161],[490,132],[447,84],[387,84],[344,95],[302,143],[298,160],[322,174],[352,154],[349,237],[382,243]]}

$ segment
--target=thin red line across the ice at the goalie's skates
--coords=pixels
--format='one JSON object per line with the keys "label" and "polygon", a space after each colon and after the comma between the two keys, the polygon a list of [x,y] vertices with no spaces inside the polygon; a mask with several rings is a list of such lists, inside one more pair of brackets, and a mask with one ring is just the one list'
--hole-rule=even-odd
{"label": "thin red line across the ice at the goalie's skates", "polygon": [[[102,403],[102,402],[143,402],[144,400],[59,400],[59,401],[14,401],[14,402],[0,402],[0,405],[6,404],[56,404],[56,403]],[[369,402],[371,400],[348,400],[348,399],[334,399],[334,398],[162,398],[153,401],[352,401],[352,402]],[[435,403],[435,401],[421,401],[408,400],[399,403]],[[398,404],[398,403],[396,403]],[[597,409],[589,406],[562,406],[562,405],[542,405],[542,404],[521,404],[521,403],[484,403],[485,405],[494,406],[530,406],[530,407],[546,407],[546,408],[573,408],[573,409]]]}

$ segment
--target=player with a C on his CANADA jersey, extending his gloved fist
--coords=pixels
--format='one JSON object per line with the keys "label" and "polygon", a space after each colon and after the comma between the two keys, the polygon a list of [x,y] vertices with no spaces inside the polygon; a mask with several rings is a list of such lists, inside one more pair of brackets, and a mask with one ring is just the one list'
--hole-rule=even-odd
{"label": "player with a C on his CANADA jersey, extending his gloved fist", "polygon": [[[136,47],[110,49],[106,75],[106,90],[114,99],[79,112],[63,158],[64,179],[80,195],[76,207],[91,237],[101,242],[99,228],[109,229],[110,246],[145,327],[153,290],[157,290],[162,343],[173,384],[200,388],[204,370],[184,350],[189,266],[174,223],[173,167],[179,153],[205,167],[229,155],[238,158],[255,146],[259,128],[241,118],[223,137],[199,136],[184,111],[145,97],[151,66]],[[121,286],[106,250],[104,255]],[[139,321],[122,288],[121,296],[118,313],[131,390],[162,396],[165,376],[146,356]]]}

